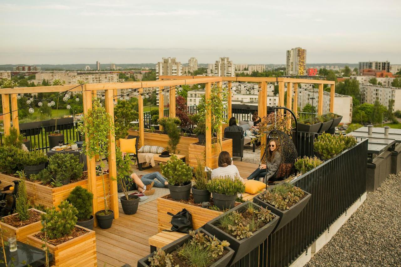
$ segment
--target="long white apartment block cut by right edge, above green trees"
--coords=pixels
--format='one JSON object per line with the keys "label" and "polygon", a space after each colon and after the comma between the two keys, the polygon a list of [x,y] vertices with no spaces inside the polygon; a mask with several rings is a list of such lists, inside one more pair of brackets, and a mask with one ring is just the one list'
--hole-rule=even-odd
{"label": "long white apartment block cut by right edge, above green trees", "polygon": [[389,101],[394,100],[393,112],[401,110],[401,88],[362,84],[359,85],[359,90],[362,103],[374,104],[377,100],[381,105],[388,107]]}

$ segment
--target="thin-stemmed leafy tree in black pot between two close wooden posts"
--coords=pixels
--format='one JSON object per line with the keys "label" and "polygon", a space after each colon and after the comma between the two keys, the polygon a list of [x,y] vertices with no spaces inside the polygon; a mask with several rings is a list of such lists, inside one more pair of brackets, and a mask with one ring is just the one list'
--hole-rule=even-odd
{"label": "thin-stemmed leafy tree in black pot between two close wooden posts", "polygon": [[[103,159],[109,154],[109,140],[107,136],[109,133],[114,134],[113,118],[103,107],[101,107],[99,100],[93,100],[93,108],[89,109],[83,124],[79,125],[78,129],[83,137],[85,137],[85,134],[89,136],[89,140],[85,140],[83,143],[83,147],[85,148],[85,152],[89,158],[99,155],[99,158]],[[104,166],[104,162],[100,160],[105,209],[99,210],[95,215],[99,227],[102,229],[108,229],[113,223],[114,212],[109,210],[107,205],[107,194],[103,172]]]}

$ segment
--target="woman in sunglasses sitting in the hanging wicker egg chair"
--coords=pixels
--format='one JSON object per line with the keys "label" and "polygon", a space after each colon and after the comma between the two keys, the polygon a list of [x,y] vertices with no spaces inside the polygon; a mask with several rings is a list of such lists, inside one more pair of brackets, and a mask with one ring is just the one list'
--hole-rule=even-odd
{"label": "woman in sunglasses sitting in the hanging wicker egg chair", "polygon": [[248,180],[265,180],[263,182],[267,182],[269,178],[272,178],[276,173],[278,167],[281,164],[281,150],[278,147],[278,142],[275,139],[271,139],[268,144],[267,156],[266,152],[263,154],[261,163],[259,167],[248,176]]}

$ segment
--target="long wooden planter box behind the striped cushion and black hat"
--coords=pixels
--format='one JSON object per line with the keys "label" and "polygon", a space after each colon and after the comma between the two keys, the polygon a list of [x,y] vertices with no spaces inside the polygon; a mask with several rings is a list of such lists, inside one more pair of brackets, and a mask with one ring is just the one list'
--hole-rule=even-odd
{"label": "long wooden planter box behind the striped cushion and black hat", "polygon": [[[128,134],[139,136],[139,131],[128,130]],[[166,134],[155,134],[144,132],[144,140],[146,146],[161,146],[168,150],[168,136]],[[181,136],[180,142],[177,145],[177,152],[185,156],[185,163],[189,164],[189,145],[198,142],[198,138]],[[139,146],[143,146],[140,144]],[[138,148],[139,149],[139,148]],[[171,152],[171,151],[170,151]]]}

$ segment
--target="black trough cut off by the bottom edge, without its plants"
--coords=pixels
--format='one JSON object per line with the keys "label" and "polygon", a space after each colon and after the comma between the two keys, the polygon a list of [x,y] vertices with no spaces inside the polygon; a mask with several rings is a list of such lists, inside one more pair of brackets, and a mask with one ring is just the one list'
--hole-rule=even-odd
{"label": "black trough cut off by the bottom edge, without its plants", "polygon": [[[195,232],[201,232],[204,233],[205,235],[212,237],[213,235],[211,235],[210,233],[208,233],[207,231],[205,231],[202,228],[199,228],[198,230],[196,230]],[[180,239],[177,239],[176,241],[162,247],[162,249],[166,252],[166,253],[172,253],[173,251],[176,251],[179,247],[181,247],[182,245],[184,245],[185,243],[187,243],[190,240],[191,236],[190,235],[184,235],[183,237],[181,237]],[[212,265],[210,265],[210,267],[226,267],[229,266],[229,262],[231,261],[231,258],[233,257],[234,251],[230,248],[230,247],[224,247],[225,251],[228,251],[226,255],[224,255],[223,257],[221,257],[218,261],[216,261],[215,263],[213,263]],[[154,253],[151,253],[150,255],[140,259],[138,261],[138,267],[149,267],[149,257],[152,257]]]}

